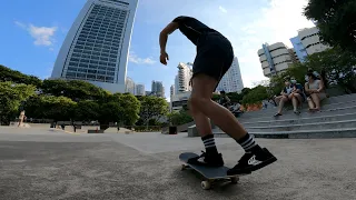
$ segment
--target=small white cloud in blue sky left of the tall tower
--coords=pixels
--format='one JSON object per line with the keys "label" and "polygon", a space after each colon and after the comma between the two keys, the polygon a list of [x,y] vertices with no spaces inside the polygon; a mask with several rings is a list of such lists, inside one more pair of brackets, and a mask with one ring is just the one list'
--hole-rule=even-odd
{"label": "small white cloud in blue sky left of the tall tower", "polygon": [[55,42],[53,37],[56,31],[58,30],[57,27],[36,27],[31,23],[27,26],[19,21],[14,21],[14,24],[27,30],[30,33],[30,36],[34,39],[33,41],[34,46],[44,46],[44,47],[53,46],[53,42]]}

